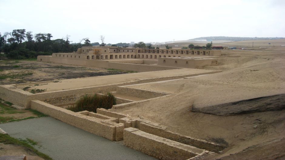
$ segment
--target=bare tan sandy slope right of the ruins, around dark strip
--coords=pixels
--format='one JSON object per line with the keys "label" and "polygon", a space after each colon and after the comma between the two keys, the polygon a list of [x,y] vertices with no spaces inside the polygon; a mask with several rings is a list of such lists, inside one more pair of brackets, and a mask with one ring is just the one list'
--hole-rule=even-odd
{"label": "bare tan sandy slope right of the ruins, around dark strip", "polygon": [[[224,56],[219,58],[218,66],[207,66],[203,69],[223,70],[223,72],[159,83],[159,85],[152,83],[136,86],[172,92],[174,95],[115,111],[143,116],[183,135],[212,141],[222,138],[228,142],[229,147],[222,154],[212,156],[210,159],[242,152],[252,145],[283,138],[285,110],[236,116],[191,112],[194,103],[202,106],[213,105],[285,93],[283,52],[227,50],[222,51],[222,54]],[[284,143],[281,144],[284,146]],[[261,145],[263,148],[266,146]],[[277,155],[282,153],[282,147],[274,152]]]}

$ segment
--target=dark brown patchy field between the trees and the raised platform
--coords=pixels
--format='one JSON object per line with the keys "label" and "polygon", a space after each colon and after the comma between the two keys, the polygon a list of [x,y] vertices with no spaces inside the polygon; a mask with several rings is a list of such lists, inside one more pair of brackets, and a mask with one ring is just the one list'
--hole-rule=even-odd
{"label": "dark brown patchy field between the trees and the raised platform", "polygon": [[[122,74],[119,70],[37,61],[0,61],[0,85]],[[1,77],[5,77],[5,79]],[[7,77],[7,78],[6,78]]]}

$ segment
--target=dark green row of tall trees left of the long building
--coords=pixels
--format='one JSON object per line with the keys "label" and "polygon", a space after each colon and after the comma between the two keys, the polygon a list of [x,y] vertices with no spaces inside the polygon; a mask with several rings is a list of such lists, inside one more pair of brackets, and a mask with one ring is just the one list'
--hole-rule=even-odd
{"label": "dark green row of tall trees left of the long building", "polygon": [[[82,46],[99,45],[91,43],[89,38],[82,38],[78,43],[70,41],[70,35],[52,40],[50,33],[33,34],[32,31],[16,29],[12,32],[0,33],[0,52],[4,52],[10,59],[35,58],[38,55],[51,55],[52,53],[73,52]],[[105,37],[100,36],[100,46],[105,46]],[[82,44],[82,42],[84,42]]]}

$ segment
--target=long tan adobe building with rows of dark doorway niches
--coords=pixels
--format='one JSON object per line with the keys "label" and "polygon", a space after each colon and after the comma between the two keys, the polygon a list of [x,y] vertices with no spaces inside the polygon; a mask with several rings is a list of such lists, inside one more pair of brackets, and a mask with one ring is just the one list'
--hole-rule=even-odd
{"label": "long tan adobe building with rows of dark doorway niches", "polygon": [[[205,65],[217,64],[216,63],[217,60],[210,58],[217,56],[221,56],[220,50],[82,47],[78,48],[77,52],[74,53],[53,53],[52,56],[38,56],[38,61],[46,61],[46,62],[61,63],[61,64],[73,64],[73,65],[89,66],[89,67],[133,70],[133,68],[128,67],[127,65],[128,63],[152,65],[151,66],[152,68],[154,67],[154,65],[156,65],[156,68],[158,66],[197,68],[197,67],[203,67]],[[177,60],[167,60],[167,63],[165,62],[163,63],[163,60],[159,60],[160,58],[175,59],[177,57],[181,58]],[[188,61],[185,61],[184,59],[186,57],[189,57],[190,59]],[[197,58],[193,59],[193,57]],[[114,60],[116,60],[116,62],[114,62]],[[166,61],[166,59],[164,60]],[[108,63],[111,61],[113,62],[112,65]],[[162,63],[160,61],[162,61]],[[174,62],[177,61],[177,63],[174,64],[172,63],[172,61]],[[184,64],[182,63],[182,61]],[[122,63],[125,63],[125,65],[123,65]],[[198,65],[199,63],[201,63],[201,65]],[[121,67],[116,67],[119,65]],[[135,67],[141,68],[142,66],[135,66]],[[152,69],[147,71],[151,70]],[[164,70],[164,69],[160,68],[155,70]],[[136,70],[136,71],[141,71],[141,70]]]}

